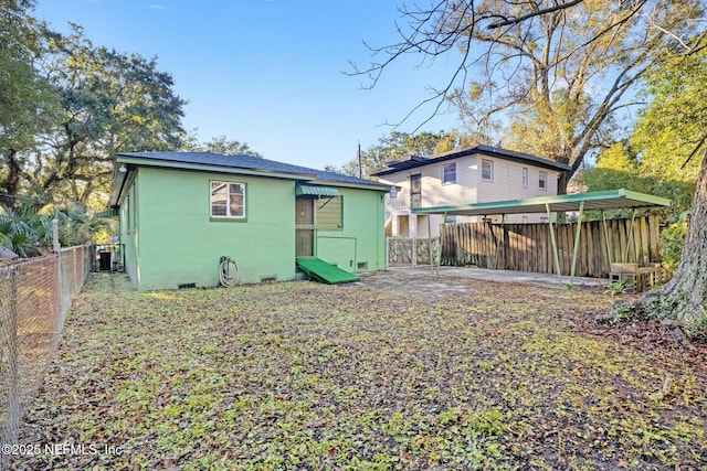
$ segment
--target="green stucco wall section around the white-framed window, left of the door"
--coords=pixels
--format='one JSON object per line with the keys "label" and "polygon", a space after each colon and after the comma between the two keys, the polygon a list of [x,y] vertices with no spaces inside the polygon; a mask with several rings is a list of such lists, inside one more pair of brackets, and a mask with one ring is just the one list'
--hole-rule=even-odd
{"label": "green stucco wall section around the white-framed window, left of the door", "polygon": [[[246,221],[210,217],[211,180],[245,183]],[[140,168],[136,188],[136,234],[122,236],[136,240],[126,264],[139,289],[217,286],[221,256],[238,261],[242,282],[294,279],[294,182]]]}

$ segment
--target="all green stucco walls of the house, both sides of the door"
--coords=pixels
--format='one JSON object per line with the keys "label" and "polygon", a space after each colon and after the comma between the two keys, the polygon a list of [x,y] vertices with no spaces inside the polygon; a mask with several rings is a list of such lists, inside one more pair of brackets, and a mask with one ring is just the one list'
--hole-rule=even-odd
{"label": "all green stucco walls of the house, both sides of the door", "polygon": [[[245,221],[210,217],[212,180],[245,183]],[[317,232],[316,255],[349,271],[384,268],[382,193],[340,193],[342,231]],[[221,256],[238,261],[243,283],[295,278],[292,180],[139,168],[129,205],[120,206],[120,239],[138,289],[217,286]]]}

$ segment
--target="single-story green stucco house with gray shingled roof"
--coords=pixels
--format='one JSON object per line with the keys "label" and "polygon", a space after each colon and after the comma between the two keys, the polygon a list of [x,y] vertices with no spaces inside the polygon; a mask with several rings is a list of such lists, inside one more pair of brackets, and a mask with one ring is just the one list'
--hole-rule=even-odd
{"label": "single-story green stucco house with gray shingled roof", "polygon": [[217,286],[222,257],[243,283],[295,279],[302,257],[386,268],[387,185],[211,152],[119,153],[115,169],[109,205],[140,290]]}

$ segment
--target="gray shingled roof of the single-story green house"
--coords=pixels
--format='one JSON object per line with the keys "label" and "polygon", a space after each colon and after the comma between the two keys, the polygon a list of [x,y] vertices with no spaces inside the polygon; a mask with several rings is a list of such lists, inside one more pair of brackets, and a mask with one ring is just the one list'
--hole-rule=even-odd
{"label": "gray shingled roof of the single-story green house", "polygon": [[324,180],[338,183],[357,185],[380,186],[388,189],[388,185],[356,176],[342,175],[324,170],[309,169],[307,167],[293,165],[291,163],[277,162],[275,160],[261,159],[253,156],[221,156],[213,152],[120,152],[117,157],[128,157],[144,159],[146,164],[149,161],[162,161],[175,163],[191,163],[209,167],[222,167],[231,169],[246,169],[251,171],[278,172],[299,174],[310,180]]}

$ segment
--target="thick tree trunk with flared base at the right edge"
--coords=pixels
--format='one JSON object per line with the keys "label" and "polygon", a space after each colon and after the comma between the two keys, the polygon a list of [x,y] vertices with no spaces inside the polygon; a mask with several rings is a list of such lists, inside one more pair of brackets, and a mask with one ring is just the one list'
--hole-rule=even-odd
{"label": "thick tree trunk with flared base at the right edge", "polygon": [[690,336],[707,340],[707,152],[687,222],[687,236],[677,271],[656,292],[646,293],[632,304],[614,304],[614,311],[625,310],[640,318],[673,319]]}

